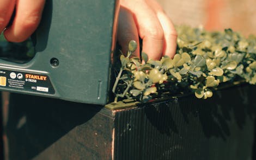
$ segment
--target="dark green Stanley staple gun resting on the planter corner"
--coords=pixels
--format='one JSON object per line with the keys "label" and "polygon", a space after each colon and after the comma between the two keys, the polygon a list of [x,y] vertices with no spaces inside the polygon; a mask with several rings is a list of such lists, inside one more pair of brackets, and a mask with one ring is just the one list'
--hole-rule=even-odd
{"label": "dark green Stanley staple gun resting on the planter corner", "polygon": [[35,56],[1,59],[0,89],[106,104],[118,11],[118,0],[47,0],[31,37]]}

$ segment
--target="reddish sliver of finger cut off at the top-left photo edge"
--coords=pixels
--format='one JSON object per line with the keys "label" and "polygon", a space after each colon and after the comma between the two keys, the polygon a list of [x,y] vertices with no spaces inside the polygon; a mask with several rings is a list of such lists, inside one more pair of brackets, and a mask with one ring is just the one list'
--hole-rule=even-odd
{"label": "reddish sliver of finger cut off at the top-left photo edge", "polygon": [[0,1],[0,33],[8,25],[15,6],[14,0]]}

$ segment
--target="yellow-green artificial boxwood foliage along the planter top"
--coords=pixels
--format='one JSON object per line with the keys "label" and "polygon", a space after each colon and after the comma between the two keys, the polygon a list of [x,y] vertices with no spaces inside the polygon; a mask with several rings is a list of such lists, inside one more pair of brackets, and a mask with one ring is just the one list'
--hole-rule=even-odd
{"label": "yellow-green artificial boxwood foliage along the planter top", "polygon": [[176,54],[160,61],[148,55],[132,57],[137,48],[129,43],[120,55],[120,69],[113,86],[116,99],[147,101],[154,97],[193,93],[210,98],[222,84],[256,84],[256,37],[248,38],[231,29],[209,32],[202,28],[180,26]]}

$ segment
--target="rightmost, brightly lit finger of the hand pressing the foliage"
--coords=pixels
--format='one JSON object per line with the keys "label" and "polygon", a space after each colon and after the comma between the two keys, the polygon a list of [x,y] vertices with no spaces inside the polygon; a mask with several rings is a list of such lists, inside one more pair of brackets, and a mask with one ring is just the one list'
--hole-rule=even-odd
{"label": "rightmost, brightly lit finger of the hand pressing the foliage", "polygon": [[163,55],[173,57],[176,52],[177,33],[170,18],[164,13],[162,7],[155,0],[147,0],[154,10],[164,33]]}

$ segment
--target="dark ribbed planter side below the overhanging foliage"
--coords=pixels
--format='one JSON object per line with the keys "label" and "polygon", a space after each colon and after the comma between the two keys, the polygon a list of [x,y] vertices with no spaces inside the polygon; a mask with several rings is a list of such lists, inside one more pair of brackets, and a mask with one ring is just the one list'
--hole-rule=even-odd
{"label": "dark ribbed planter side below the overhanging foliage", "polygon": [[[114,158],[243,160],[251,157],[255,116],[251,88],[231,87],[215,92],[207,100],[188,96],[118,111],[114,121],[117,130]],[[132,126],[129,132],[125,130],[127,124]],[[137,125],[141,127],[134,127]]]}

